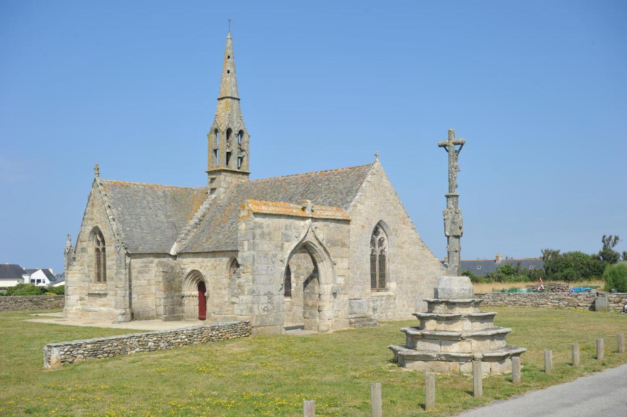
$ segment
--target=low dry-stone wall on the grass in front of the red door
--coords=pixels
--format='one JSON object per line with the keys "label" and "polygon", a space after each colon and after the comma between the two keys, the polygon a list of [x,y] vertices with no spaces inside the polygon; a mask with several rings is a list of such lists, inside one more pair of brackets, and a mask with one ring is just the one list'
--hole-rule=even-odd
{"label": "low dry-stone wall on the grass in front of the red door", "polygon": [[117,355],[161,351],[191,344],[248,337],[251,329],[250,321],[234,321],[48,343],[43,348],[43,367],[58,368],[64,363],[83,362],[87,359],[112,358]]}

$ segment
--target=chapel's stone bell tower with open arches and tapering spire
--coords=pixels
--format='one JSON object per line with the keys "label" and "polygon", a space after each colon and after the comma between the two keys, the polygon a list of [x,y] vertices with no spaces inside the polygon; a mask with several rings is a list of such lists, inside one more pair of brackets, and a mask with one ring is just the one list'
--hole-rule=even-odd
{"label": "chapel's stone bell tower with open arches and tapering spire", "polygon": [[250,174],[250,135],[241,114],[235,75],[233,38],[226,36],[218,108],[207,133],[209,194],[221,193]]}

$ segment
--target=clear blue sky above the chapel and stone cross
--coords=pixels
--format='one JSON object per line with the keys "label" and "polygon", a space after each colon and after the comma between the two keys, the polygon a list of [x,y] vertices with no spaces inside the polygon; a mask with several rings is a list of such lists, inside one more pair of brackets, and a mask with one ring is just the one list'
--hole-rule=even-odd
{"label": "clear blue sky above the chapel and stone cross", "polygon": [[[507,4],[506,4],[507,3]],[[206,183],[232,18],[251,178],[370,163],[463,259],[627,249],[624,1],[0,1],[0,262],[63,269],[103,178]]]}

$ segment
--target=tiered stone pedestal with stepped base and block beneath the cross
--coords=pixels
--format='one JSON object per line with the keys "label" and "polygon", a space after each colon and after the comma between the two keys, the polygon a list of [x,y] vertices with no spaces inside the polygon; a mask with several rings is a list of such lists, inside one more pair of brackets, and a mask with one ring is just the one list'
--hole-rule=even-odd
{"label": "tiered stone pedestal with stepped base and block beneath the cross", "polygon": [[512,329],[494,325],[496,312],[480,311],[482,299],[472,298],[468,277],[440,277],[427,312],[414,313],[419,326],[404,327],[404,346],[388,346],[394,361],[419,371],[472,373],[472,361],[482,361],[483,373],[506,373],[510,358],[525,348],[508,346]]}

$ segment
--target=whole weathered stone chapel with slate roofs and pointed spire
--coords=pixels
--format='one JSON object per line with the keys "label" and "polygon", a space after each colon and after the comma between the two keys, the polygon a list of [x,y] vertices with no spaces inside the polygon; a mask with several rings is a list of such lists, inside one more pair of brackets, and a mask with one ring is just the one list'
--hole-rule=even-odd
{"label": "whole weathered stone chapel with slate roofs and pointed spire", "polygon": [[250,180],[226,38],[205,187],[100,178],[65,245],[66,317],[249,320],[257,334],[409,319],[445,269],[381,166]]}

